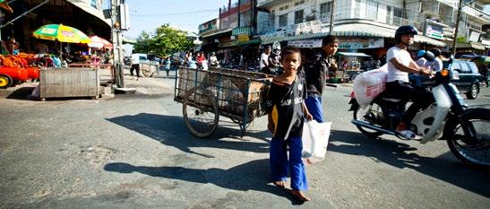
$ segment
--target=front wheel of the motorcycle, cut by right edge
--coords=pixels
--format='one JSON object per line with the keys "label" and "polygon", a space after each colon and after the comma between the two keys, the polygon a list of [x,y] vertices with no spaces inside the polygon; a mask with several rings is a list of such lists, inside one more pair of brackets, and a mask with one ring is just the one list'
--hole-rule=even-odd
{"label": "front wheel of the motorcycle, cut by right edge", "polygon": [[444,139],[451,152],[471,166],[490,168],[490,109],[469,109],[464,116],[474,127],[477,138],[468,139],[454,118],[444,128]]}

